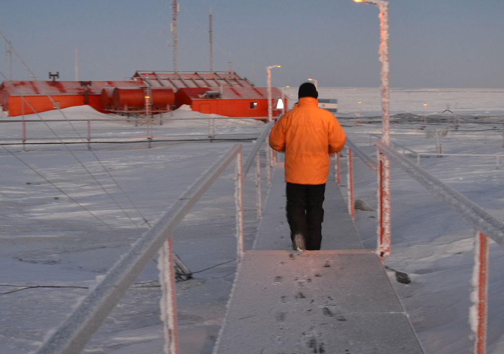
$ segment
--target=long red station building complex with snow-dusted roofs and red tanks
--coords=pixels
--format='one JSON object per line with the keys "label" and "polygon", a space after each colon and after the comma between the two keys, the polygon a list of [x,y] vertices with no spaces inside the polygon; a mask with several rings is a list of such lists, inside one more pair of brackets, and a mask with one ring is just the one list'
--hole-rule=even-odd
{"label": "long red station building complex with snow-dusted roofs and red tanks", "polygon": [[[136,72],[131,81],[5,81],[0,104],[9,116],[86,104],[105,113],[142,112],[140,88],[146,86],[152,89],[152,108],[158,99],[159,111],[186,104],[195,111],[228,117],[268,116],[267,89],[256,88],[233,72]],[[280,90],[272,88],[273,116],[278,115],[280,99]],[[284,98],[285,107],[286,103]]]}

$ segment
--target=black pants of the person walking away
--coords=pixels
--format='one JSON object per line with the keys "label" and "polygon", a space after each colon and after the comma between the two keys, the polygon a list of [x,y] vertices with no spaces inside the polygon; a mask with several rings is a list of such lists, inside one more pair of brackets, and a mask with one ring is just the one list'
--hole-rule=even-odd
{"label": "black pants of the person walking away", "polygon": [[287,182],[287,221],[290,237],[302,234],[307,250],[320,250],[324,221],[324,193],[326,184],[295,184]]}

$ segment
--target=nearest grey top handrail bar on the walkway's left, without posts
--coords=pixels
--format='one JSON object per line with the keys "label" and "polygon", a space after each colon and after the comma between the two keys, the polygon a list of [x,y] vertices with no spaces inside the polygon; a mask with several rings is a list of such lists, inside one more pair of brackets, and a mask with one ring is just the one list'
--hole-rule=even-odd
{"label": "nearest grey top handrail bar on the walkway's left, without posts", "polygon": [[[193,186],[166,211],[161,219],[132,245],[80,301],[78,307],[52,333],[36,354],[75,354],[80,352],[122,295],[133,284],[152,257],[173,233],[177,224],[205,193],[215,179],[236,158],[241,145],[234,145]],[[239,163],[241,165],[241,162]]]}

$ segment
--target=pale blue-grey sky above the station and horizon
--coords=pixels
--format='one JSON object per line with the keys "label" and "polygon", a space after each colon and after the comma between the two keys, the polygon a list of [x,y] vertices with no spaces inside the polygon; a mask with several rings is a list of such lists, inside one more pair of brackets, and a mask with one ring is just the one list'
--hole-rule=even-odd
{"label": "pale blue-grey sky above the station and horizon", "polygon": [[[179,0],[179,70],[231,68],[257,86],[376,87],[379,19],[352,0]],[[504,88],[504,1],[390,0],[392,87]],[[0,5],[0,31],[46,80],[122,80],[135,70],[172,70],[171,0],[17,0]],[[0,70],[8,76],[5,43]],[[14,80],[29,74],[15,58]]]}

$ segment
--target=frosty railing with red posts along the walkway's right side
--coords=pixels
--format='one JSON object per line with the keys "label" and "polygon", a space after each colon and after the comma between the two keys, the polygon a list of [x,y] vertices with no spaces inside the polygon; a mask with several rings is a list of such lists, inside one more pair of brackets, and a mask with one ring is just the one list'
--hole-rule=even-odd
{"label": "frosty railing with red posts along the walkway's right side", "polygon": [[[370,163],[370,158],[366,157],[354,144],[347,140],[348,148],[348,171],[352,171],[352,150],[359,152],[358,155],[376,173],[376,165]],[[461,193],[437,180],[419,166],[415,165],[402,156],[389,145],[381,141],[376,143],[377,155],[386,155],[392,162],[399,165],[413,179],[422,184],[433,195],[441,198],[446,204],[451,206],[457,213],[467,220],[476,232],[475,258],[473,268],[473,294],[471,300],[473,305],[470,309],[471,329],[475,335],[474,353],[484,354],[486,352],[486,326],[487,326],[487,293],[488,293],[488,237],[495,241],[501,248],[504,248],[504,223],[489,215],[483,208],[472,202]],[[339,171],[339,166],[338,166]],[[349,210],[353,209],[353,175],[348,173],[349,189]],[[381,193],[378,193],[379,197]],[[350,198],[352,200],[350,201]],[[351,212],[350,212],[351,213]],[[383,240],[379,240],[379,246],[390,249],[390,240],[387,245],[380,245]],[[379,248],[380,248],[379,247]],[[377,251],[381,253],[380,251]],[[385,256],[381,254],[382,256]]]}

